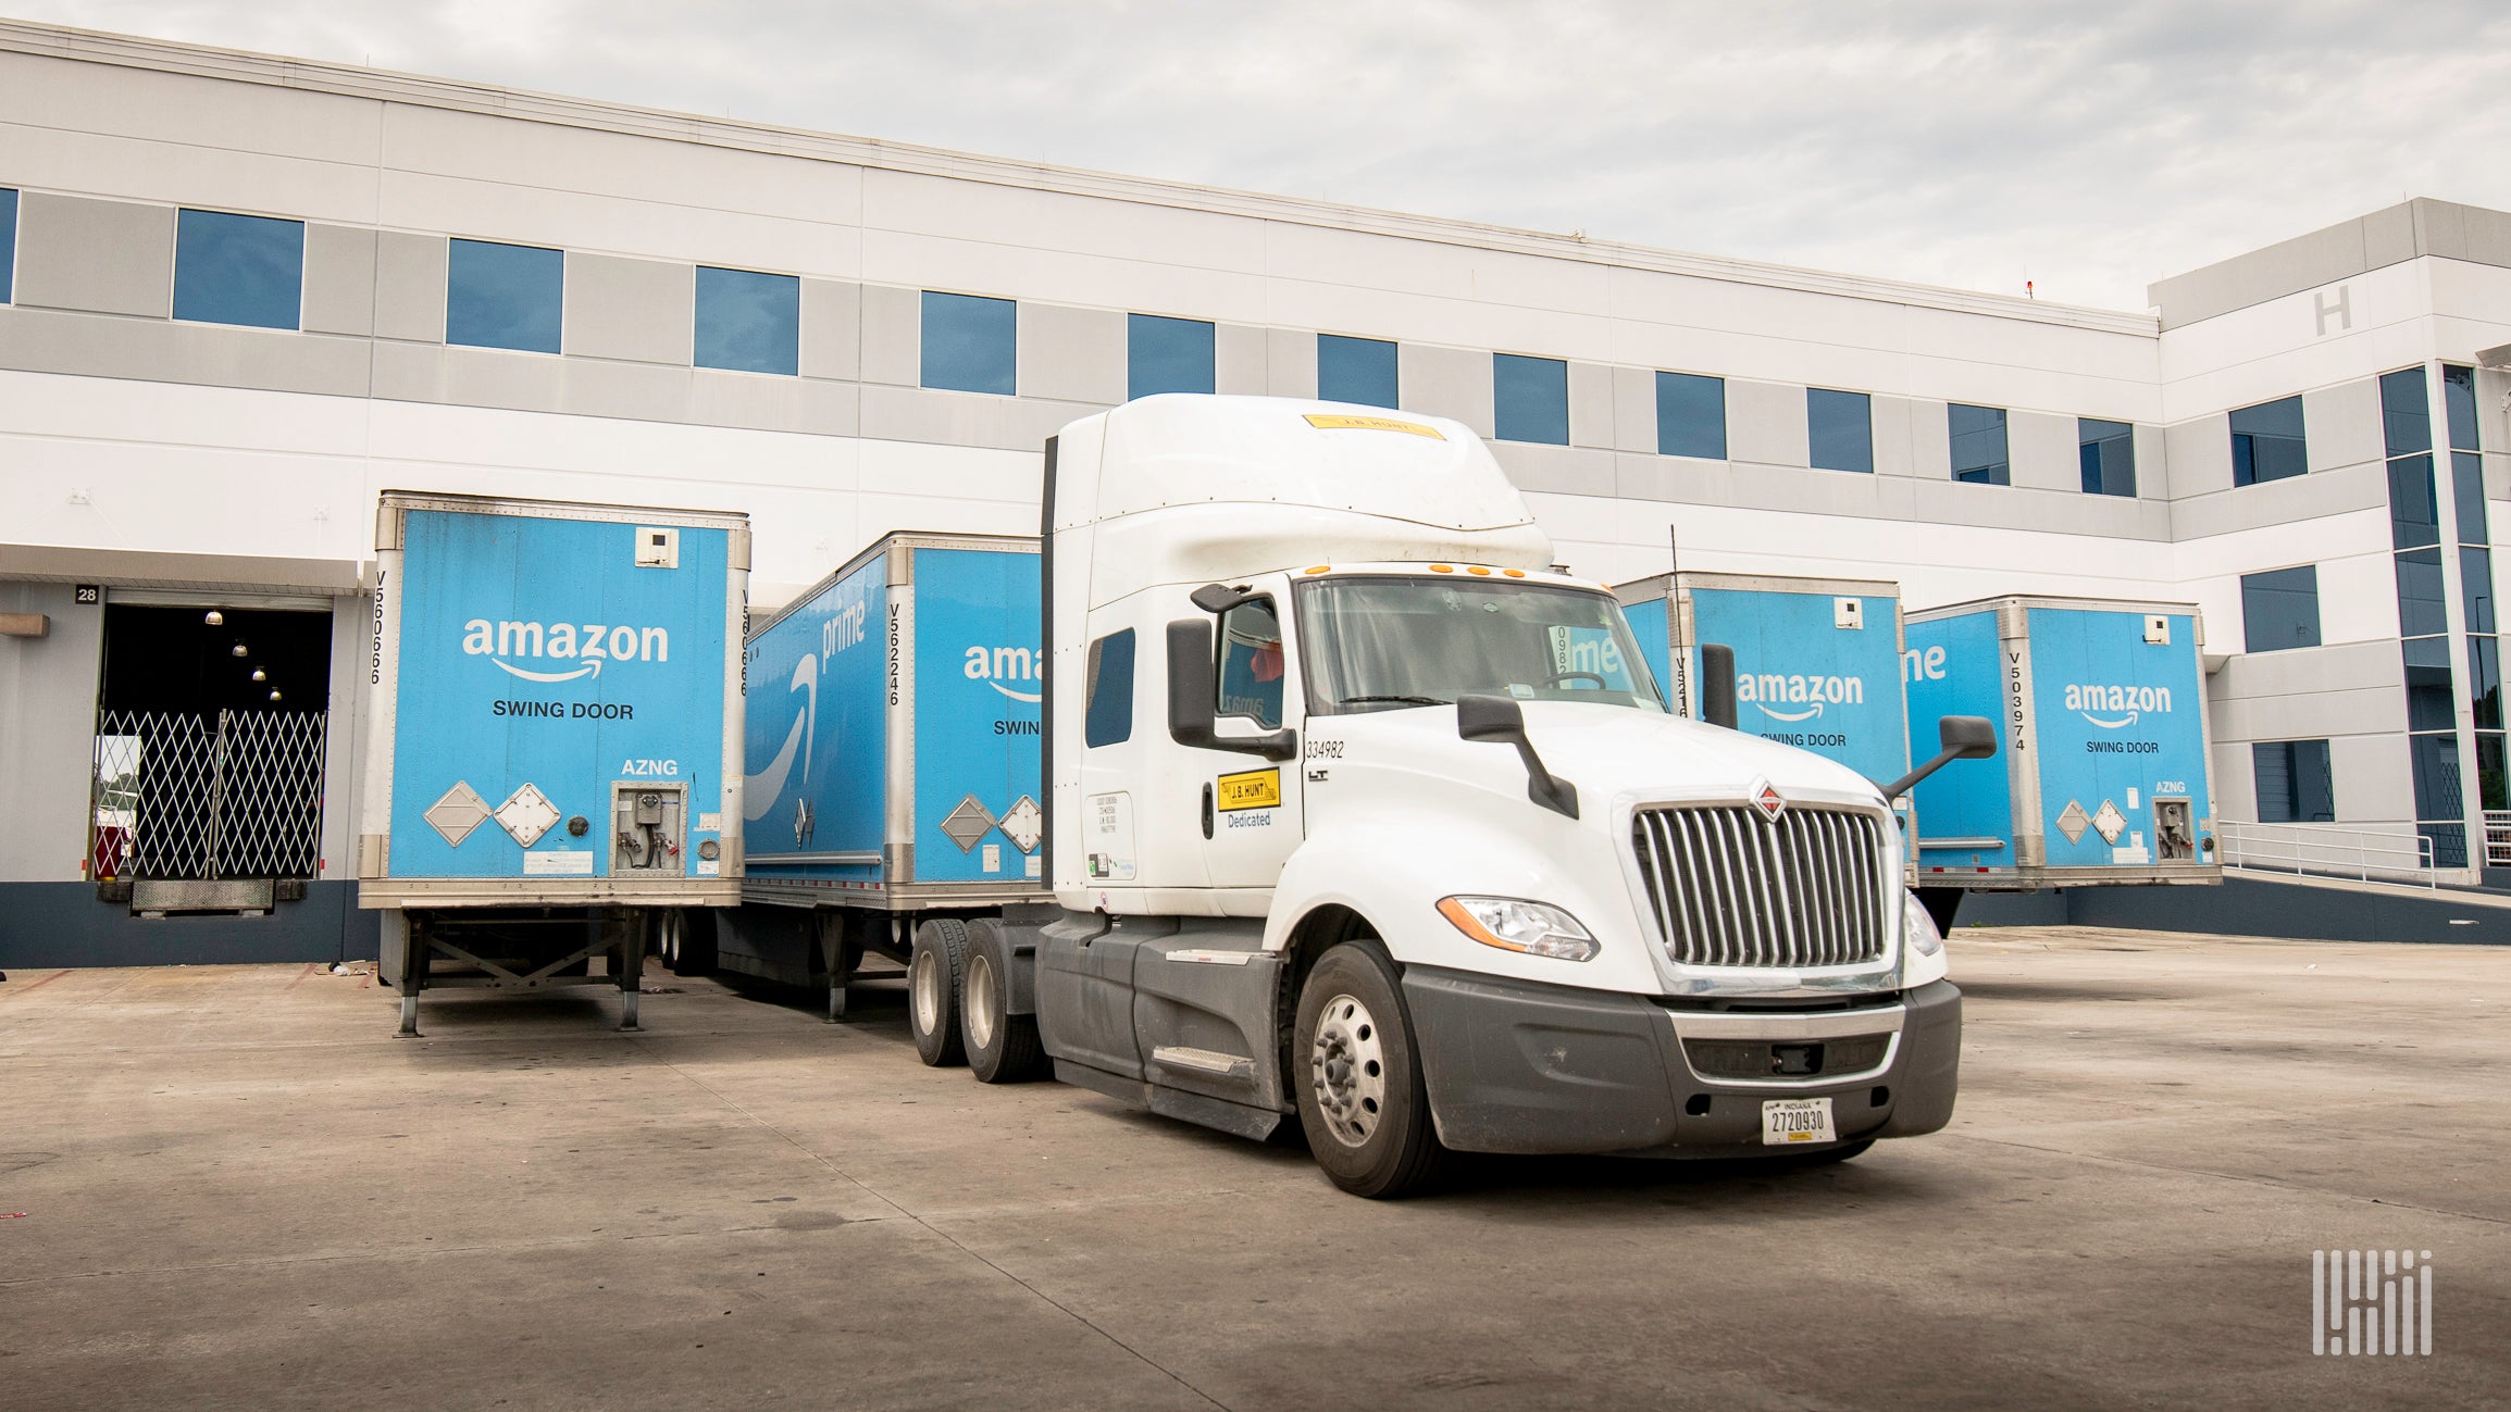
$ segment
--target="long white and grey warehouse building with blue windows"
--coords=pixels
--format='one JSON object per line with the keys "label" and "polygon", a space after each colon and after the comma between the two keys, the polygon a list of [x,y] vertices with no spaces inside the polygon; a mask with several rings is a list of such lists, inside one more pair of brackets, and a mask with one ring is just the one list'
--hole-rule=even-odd
{"label": "long white and grey warehouse building with blue windows", "polygon": [[2481,883],[2511,216],[2152,303],[0,23],[0,966],[372,948],[387,487],[741,509],[771,607],[1035,532],[1045,436],[1155,391],[1454,416],[1605,582],[2197,602],[2235,853]]}

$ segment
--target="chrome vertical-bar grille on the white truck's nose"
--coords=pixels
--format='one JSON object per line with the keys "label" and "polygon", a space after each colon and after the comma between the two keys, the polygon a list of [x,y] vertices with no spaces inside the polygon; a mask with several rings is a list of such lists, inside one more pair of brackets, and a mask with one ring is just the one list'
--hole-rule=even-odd
{"label": "chrome vertical-bar grille on the white truck's nose", "polygon": [[1878,961],[1883,823],[1871,813],[1740,805],[1640,810],[1630,843],[1665,948],[1685,966]]}

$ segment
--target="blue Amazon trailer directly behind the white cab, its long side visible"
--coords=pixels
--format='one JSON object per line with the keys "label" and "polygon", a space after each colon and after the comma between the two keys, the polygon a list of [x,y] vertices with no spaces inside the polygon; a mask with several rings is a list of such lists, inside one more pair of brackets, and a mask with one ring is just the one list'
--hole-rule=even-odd
{"label": "blue Amazon trailer directly behind the white cab, its long side visible", "polygon": [[1050,900],[1035,537],[886,534],[746,655],[748,868],[718,968],[826,983],[836,1018],[864,953]]}

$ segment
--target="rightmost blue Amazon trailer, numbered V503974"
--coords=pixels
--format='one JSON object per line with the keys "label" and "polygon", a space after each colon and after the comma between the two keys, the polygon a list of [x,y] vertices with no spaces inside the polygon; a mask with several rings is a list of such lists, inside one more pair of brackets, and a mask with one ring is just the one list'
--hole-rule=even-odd
{"label": "rightmost blue Amazon trailer, numbered V503974", "polygon": [[1921,782],[1926,888],[2220,883],[2192,604],[1996,597],[1908,614],[1911,712],[2004,725]]}

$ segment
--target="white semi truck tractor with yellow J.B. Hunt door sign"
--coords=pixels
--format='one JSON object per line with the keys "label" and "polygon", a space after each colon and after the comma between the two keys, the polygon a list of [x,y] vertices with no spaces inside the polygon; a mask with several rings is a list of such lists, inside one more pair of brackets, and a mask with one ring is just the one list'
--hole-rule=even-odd
{"label": "white semi truck tractor with yellow J.B. Hunt door sign", "polygon": [[1667,715],[1469,429],[1150,396],[1045,466],[1052,903],[914,928],[927,1058],[1296,1116],[1361,1196],[1446,1151],[1820,1161],[1951,1119],[1908,780]]}

